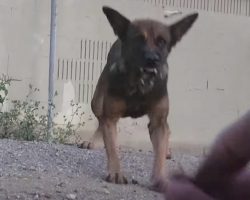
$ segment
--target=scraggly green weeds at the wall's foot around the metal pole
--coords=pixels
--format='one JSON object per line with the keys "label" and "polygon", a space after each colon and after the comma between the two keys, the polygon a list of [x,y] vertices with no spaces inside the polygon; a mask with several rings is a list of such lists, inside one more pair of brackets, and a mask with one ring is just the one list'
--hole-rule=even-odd
{"label": "scraggly green weeds at the wall's foot around the metal pole", "polygon": [[[11,109],[0,112],[0,138],[11,138],[28,141],[50,141],[65,143],[69,137],[76,136],[76,131],[84,126],[82,122],[81,106],[70,102],[72,114],[70,117],[64,116],[64,124],[52,124],[52,135],[48,138],[48,116],[45,107],[40,101],[32,100],[31,96],[39,92],[38,88],[29,85],[30,92],[26,99],[11,101]],[[5,89],[3,89],[5,91]],[[8,93],[8,90],[7,92]],[[56,94],[55,94],[56,96]],[[53,105],[55,111],[55,105]],[[56,117],[58,113],[54,114]],[[73,120],[78,118],[79,123],[73,124]]]}

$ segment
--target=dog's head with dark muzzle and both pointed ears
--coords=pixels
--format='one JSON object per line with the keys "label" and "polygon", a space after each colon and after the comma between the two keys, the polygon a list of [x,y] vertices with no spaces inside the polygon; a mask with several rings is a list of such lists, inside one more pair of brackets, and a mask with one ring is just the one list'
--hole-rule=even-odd
{"label": "dog's head with dark muzzle and both pointed ears", "polygon": [[[121,40],[121,54],[125,66],[140,71],[140,80],[152,83],[155,77],[167,76],[167,57],[173,46],[192,26],[198,14],[186,16],[173,25],[155,20],[130,21],[119,12],[103,7],[114,33]],[[150,84],[153,85],[153,84]]]}

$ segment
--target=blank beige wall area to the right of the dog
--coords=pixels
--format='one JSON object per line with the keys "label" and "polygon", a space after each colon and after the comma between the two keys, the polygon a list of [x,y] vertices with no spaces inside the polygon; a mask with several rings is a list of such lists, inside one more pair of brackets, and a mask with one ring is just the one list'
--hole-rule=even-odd
{"label": "blank beige wall area to the right of the dog", "polygon": [[176,137],[206,143],[250,108],[249,25],[246,17],[202,13],[173,51],[170,121],[181,133]]}

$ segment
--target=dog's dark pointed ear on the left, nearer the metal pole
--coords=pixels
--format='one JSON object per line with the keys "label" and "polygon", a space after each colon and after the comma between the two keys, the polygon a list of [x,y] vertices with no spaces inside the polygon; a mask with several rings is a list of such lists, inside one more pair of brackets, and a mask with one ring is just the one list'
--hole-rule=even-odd
{"label": "dog's dark pointed ear on the left, nearer the metal pole", "polygon": [[130,21],[116,10],[109,8],[107,6],[103,6],[102,10],[106,15],[106,17],[108,18],[109,23],[114,30],[114,33],[121,40],[123,40],[130,25]]}

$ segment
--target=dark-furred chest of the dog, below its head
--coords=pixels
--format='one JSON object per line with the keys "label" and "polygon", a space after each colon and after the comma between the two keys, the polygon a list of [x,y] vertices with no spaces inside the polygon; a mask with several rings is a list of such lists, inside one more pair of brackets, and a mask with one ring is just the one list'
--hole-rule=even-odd
{"label": "dark-furred chest of the dog, below its head", "polygon": [[117,66],[110,67],[108,93],[125,101],[126,109],[123,117],[141,117],[147,114],[158,100],[167,95],[167,76],[164,79],[152,79],[153,85],[149,87],[146,79],[144,84],[141,84],[141,76],[133,76],[132,72],[131,78],[130,73],[122,72],[115,67]]}

